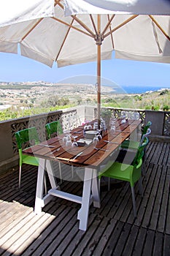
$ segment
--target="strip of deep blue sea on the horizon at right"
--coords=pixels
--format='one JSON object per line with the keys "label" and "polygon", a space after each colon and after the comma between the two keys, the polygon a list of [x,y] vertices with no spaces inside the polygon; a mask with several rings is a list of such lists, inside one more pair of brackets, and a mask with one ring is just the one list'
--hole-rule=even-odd
{"label": "strip of deep blue sea on the horizon at right", "polygon": [[[112,87],[112,86],[111,86]],[[169,87],[162,87],[162,86],[121,86],[118,91],[124,91],[125,94],[144,94],[146,92],[149,91],[158,91],[158,90],[162,90],[162,89],[169,89],[170,90],[170,86]],[[115,91],[114,87],[113,90]],[[112,92],[114,92],[112,91]],[[116,89],[117,91],[117,89]],[[117,91],[117,93],[118,93]]]}

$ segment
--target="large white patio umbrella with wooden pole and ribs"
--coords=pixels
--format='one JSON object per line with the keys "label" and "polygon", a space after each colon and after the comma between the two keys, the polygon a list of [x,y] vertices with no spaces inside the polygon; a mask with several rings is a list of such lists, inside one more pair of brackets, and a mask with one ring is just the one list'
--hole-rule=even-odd
{"label": "large white patio umbrella with wooden pole and ribs", "polygon": [[0,51],[18,53],[20,45],[21,55],[50,67],[97,61],[99,119],[101,60],[115,50],[116,57],[170,63],[169,15],[168,0],[55,0],[54,17],[2,26]]}

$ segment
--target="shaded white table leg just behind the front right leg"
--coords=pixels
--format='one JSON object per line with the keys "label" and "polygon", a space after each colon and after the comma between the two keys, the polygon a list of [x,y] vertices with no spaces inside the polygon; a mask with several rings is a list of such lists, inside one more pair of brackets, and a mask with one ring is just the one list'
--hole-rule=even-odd
{"label": "shaded white table leg just behind the front right leg", "polygon": [[101,200],[99,195],[98,189],[98,170],[93,170],[93,180],[92,180],[92,195],[93,195],[93,206],[100,208],[101,207]]}

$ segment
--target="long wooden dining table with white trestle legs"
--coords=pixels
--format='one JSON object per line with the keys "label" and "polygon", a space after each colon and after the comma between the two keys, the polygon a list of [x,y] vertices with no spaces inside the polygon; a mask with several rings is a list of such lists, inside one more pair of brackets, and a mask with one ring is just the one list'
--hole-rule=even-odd
{"label": "long wooden dining table with white trestle legs", "polygon": [[[92,127],[95,121],[90,122]],[[90,204],[93,203],[93,206],[96,208],[100,208],[101,205],[98,192],[98,170],[120,148],[121,143],[125,139],[129,138],[134,131],[139,130],[140,124],[141,121],[139,120],[126,120],[122,124],[121,119],[117,119],[115,122],[115,132],[103,131],[101,140],[98,140],[98,143],[95,145],[90,143],[90,145],[85,146],[66,146],[63,142],[63,134],[23,150],[23,154],[39,157],[35,214],[41,214],[42,208],[54,196],[72,200],[81,204],[77,214],[77,219],[80,220],[79,228],[80,230],[87,230]],[[83,139],[85,138],[84,127],[77,127],[70,131],[70,134],[71,138],[76,135],[76,140]],[[85,167],[81,197],[61,191],[61,187],[54,178],[53,161],[63,162],[66,165]],[[45,171],[47,171],[51,189],[44,196]]]}

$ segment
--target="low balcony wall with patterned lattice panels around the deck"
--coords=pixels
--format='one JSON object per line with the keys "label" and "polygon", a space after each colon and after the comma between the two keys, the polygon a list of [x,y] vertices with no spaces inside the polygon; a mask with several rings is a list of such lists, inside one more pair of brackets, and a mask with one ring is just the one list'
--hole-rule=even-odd
{"label": "low balcony wall with patterned lattice panels around the deck", "polygon": [[[142,123],[152,121],[152,140],[170,141],[170,112],[168,111],[153,111],[153,110],[134,110],[123,108],[107,108],[119,117],[121,111],[126,113],[139,113],[139,118]],[[15,141],[15,132],[27,127],[36,127],[39,133],[39,139],[45,140],[45,124],[55,120],[61,120],[63,129],[73,128],[81,124],[84,120],[93,120],[96,118],[96,108],[92,106],[79,106],[69,110],[57,110],[50,113],[43,113],[35,116],[27,116],[24,118],[16,118],[9,121],[0,122],[0,173],[9,170],[18,165],[18,148]],[[76,118],[75,118],[76,117]],[[72,123],[70,120],[74,120]]]}

